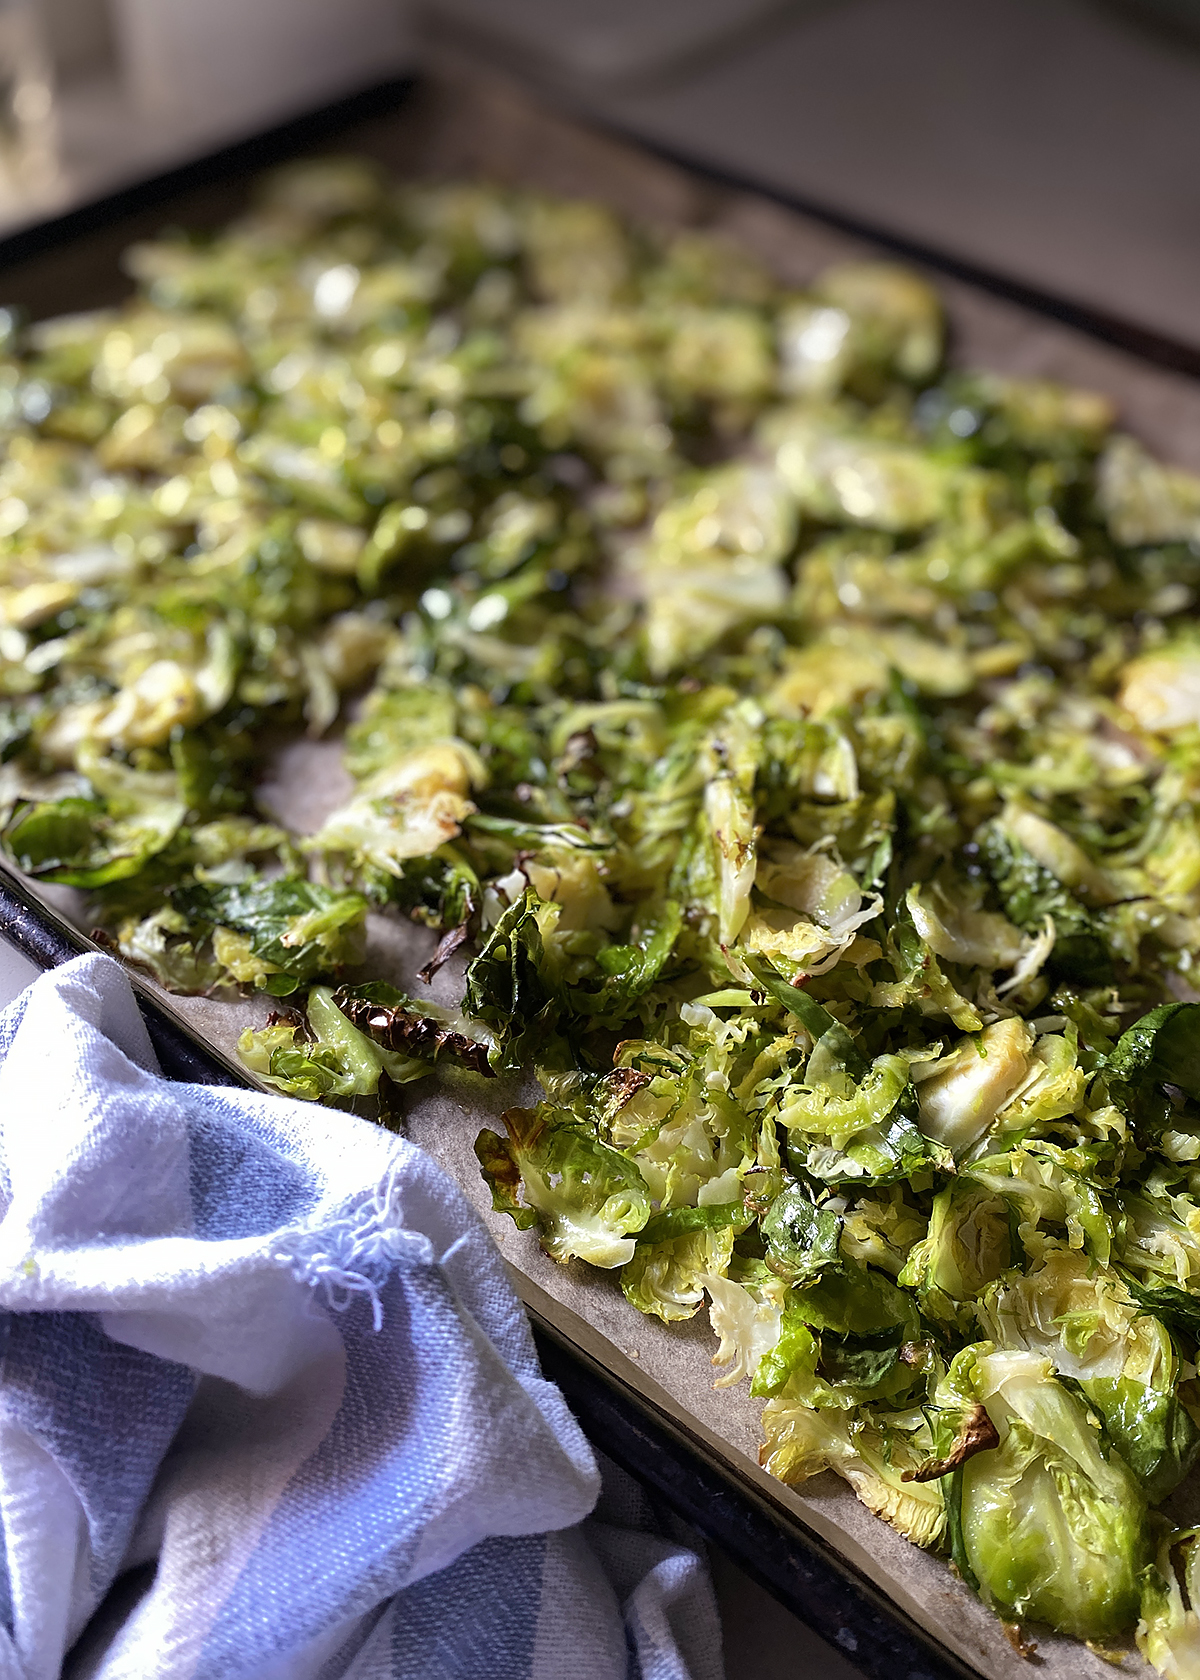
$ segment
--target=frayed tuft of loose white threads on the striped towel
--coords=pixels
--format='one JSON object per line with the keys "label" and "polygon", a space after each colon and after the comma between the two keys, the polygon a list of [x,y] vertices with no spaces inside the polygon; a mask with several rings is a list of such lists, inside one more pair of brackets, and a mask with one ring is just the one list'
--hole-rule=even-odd
{"label": "frayed tuft of loose white threads on the striped towel", "polygon": [[[462,1238],[459,1238],[462,1242]],[[454,1253],[454,1243],[444,1260]],[[393,1161],[378,1186],[318,1230],[284,1233],[274,1258],[301,1284],[319,1289],[333,1312],[345,1312],[366,1295],[375,1329],[383,1327],[380,1292],[397,1267],[412,1270],[434,1263],[429,1236],[400,1223],[400,1161]],[[439,1262],[440,1263],[440,1262]]]}

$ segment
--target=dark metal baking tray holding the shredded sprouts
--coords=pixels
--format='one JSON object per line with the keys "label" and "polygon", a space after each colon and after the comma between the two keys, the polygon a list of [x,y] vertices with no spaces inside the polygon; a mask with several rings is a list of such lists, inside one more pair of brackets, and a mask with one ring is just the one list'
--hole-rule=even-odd
{"label": "dark metal baking tray holding the shredded sprouts", "polygon": [[[462,143],[461,131],[477,121],[476,108],[482,101],[491,102],[492,116],[501,111],[499,131],[508,134],[508,155],[494,158],[489,153],[489,163],[509,178],[523,176],[533,165],[539,185],[571,190],[571,176],[580,173],[575,153],[590,148],[593,173],[597,166],[603,173],[607,160],[612,176],[607,195],[615,203],[647,213],[657,210],[667,220],[718,222],[751,239],[768,255],[773,244],[783,244],[785,267],[807,264],[812,270],[847,250],[901,245],[904,255],[921,260],[941,277],[968,358],[1017,363],[1022,371],[1049,371],[1109,388],[1126,412],[1133,410],[1134,427],[1151,444],[1200,464],[1200,386],[1190,378],[1200,371],[1200,363],[1188,346],[1148,339],[1136,329],[1096,318],[1062,299],[1013,287],[894,239],[884,240],[822,207],[795,207],[778,193],[756,193],[748,200],[745,190],[753,183],[721,180],[691,163],[681,168],[679,160],[630,150],[624,138],[580,128],[573,119],[529,114],[533,108],[526,111],[523,92],[509,86],[467,84],[464,92],[461,72],[450,76],[449,86],[447,99],[445,81],[388,82],[0,240],[0,297],[37,316],[113,301],[128,289],[118,255],[131,239],[166,222],[220,223],[237,210],[257,170],[304,151],[350,144],[424,173],[467,170],[472,160],[479,166],[477,146],[472,150],[471,141]],[[442,113],[440,104],[449,104],[449,111]],[[474,113],[466,123],[464,111]],[[558,146],[550,141],[558,141]],[[534,146],[536,160],[531,156]],[[630,170],[639,173],[637,188],[627,178]],[[803,223],[797,222],[795,208],[803,212]],[[792,228],[790,245],[782,240],[785,222]],[[0,870],[0,937],[42,968],[97,949],[10,870]],[[138,976],[133,979],[161,1067],[170,1077],[203,1084],[247,1082],[232,1058],[205,1043],[156,988]],[[713,1452],[711,1431],[699,1423],[691,1428],[677,1408],[655,1403],[652,1384],[625,1381],[620,1369],[597,1354],[595,1337],[585,1347],[571,1336],[570,1324],[565,1327],[561,1314],[550,1307],[539,1310],[528,1292],[526,1302],[531,1304],[546,1371],[561,1384],[597,1445],[711,1536],[751,1578],[845,1651],[866,1675],[872,1680],[943,1680],[951,1675],[978,1680],[985,1673],[985,1667],[975,1667],[963,1656],[960,1641],[955,1641],[960,1643],[955,1651],[921,1626],[782,1497],[773,1497],[770,1488],[731,1468],[728,1458]],[[946,1633],[953,1638],[953,1630],[946,1628]],[[998,1625],[995,1635],[1000,1640]],[[987,1667],[990,1670],[990,1663]]]}

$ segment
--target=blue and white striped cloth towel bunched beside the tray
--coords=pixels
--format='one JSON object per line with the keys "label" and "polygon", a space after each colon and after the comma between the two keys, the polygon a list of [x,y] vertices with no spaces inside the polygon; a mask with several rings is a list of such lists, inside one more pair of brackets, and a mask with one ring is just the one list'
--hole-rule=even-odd
{"label": "blue and white striped cloth towel bunched beside the tray", "polygon": [[161,1079],[86,956],[0,1015],[0,1680],[719,1680],[412,1144]]}

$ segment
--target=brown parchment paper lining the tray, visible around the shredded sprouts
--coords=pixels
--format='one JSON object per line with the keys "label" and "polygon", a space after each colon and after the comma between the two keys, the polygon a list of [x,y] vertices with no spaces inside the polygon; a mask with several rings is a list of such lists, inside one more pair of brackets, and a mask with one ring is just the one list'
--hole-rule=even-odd
{"label": "brown parchment paper lining the tray, visible around the shredded sprouts", "polygon": [[[766,198],[714,186],[630,144],[550,114],[519,89],[461,66],[442,66],[435,84],[410,108],[363,124],[348,136],[348,148],[366,151],[408,176],[487,175],[602,198],[640,218],[703,223],[736,237],[793,282],[808,281],[834,260],[877,255],[872,247]],[[963,284],[938,279],[938,286],[948,304],[960,363],[1106,391],[1118,402],[1126,427],[1155,452],[1200,469],[1200,385]],[[336,741],[296,741],[272,759],[262,801],[289,827],[313,832],[348,791]],[[79,895],[35,890],[87,927]],[[373,917],[366,969],[373,978],[390,978],[422,995],[425,988],[415,981],[415,969],[432,944],[434,936],[425,929]],[[447,964],[429,995],[449,1001],[461,984],[462,966]],[[148,990],[156,991],[153,984]],[[242,1026],[261,1023],[272,1008],[267,998],[165,1001],[176,1018],[230,1060]],[[743,1482],[820,1534],[988,1680],[1027,1675],[1027,1663],[1007,1643],[1000,1623],[953,1578],[946,1562],[919,1552],[874,1519],[840,1480],[824,1475],[792,1490],[760,1472],[760,1403],[750,1398],[745,1384],[713,1389],[714,1339],[706,1315],[682,1326],[647,1319],[624,1300],[613,1275],[580,1262],[555,1265],[531,1233],[516,1231],[506,1216],[491,1211],[472,1142],[481,1124],[496,1124],[501,1109],[528,1097],[521,1080],[486,1082],[447,1072],[408,1092],[408,1136],[462,1184],[503,1245],[519,1292],[543,1319],[676,1418]],[[1111,1675],[1099,1656],[1054,1636],[1039,1640],[1039,1667],[1047,1680]],[[1126,1660],[1124,1672],[1150,1673],[1136,1655]]]}

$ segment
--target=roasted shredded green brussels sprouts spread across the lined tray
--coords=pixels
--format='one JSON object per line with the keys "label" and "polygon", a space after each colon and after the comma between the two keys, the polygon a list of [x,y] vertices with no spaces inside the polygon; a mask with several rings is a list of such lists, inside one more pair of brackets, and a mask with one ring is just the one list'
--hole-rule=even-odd
{"label": "roasted shredded green brussels sprouts spread across the lined tray", "polygon": [[906,270],[600,205],[328,160],[128,267],[3,318],[7,857],[289,998],[291,1095],[536,1070],[496,1208],[708,1302],[770,1470],[1198,1675],[1200,479]]}

